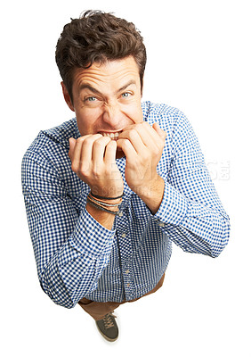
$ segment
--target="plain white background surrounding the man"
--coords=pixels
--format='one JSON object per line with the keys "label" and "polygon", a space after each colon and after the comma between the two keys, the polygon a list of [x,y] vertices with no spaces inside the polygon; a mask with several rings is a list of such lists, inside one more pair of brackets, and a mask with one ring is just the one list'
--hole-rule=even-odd
{"label": "plain white background surrounding the man", "polygon": [[[231,239],[216,259],[174,246],[164,286],[117,309],[109,344],[77,306],[41,290],[20,185],[20,162],[40,129],[72,117],[54,49],[87,9],[115,12],[142,31],[143,99],[178,107],[206,156]],[[251,356],[250,11],[244,0],[9,1],[1,5],[1,333],[5,356]]]}

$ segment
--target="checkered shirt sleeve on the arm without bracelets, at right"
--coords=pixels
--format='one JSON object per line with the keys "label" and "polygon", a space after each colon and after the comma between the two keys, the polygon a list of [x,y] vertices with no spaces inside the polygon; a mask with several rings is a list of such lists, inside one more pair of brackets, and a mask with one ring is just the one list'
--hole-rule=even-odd
{"label": "checkered shirt sleeve on the arm without bracelets, at right", "polygon": [[230,220],[206,168],[198,138],[181,112],[170,146],[171,165],[155,218],[185,252],[216,257],[228,243]]}

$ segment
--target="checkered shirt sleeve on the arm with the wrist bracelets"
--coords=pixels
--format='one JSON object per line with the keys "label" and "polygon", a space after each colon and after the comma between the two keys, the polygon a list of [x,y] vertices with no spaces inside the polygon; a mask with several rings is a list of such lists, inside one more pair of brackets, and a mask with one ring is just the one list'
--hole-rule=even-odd
{"label": "checkered shirt sleeve on the arm with the wrist bracelets", "polygon": [[101,226],[85,208],[77,213],[43,154],[24,155],[22,190],[40,285],[54,303],[72,308],[97,287],[115,231]]}

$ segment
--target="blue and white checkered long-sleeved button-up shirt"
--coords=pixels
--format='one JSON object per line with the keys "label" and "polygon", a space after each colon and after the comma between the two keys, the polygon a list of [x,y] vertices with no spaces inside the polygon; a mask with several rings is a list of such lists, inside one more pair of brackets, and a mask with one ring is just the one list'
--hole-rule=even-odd
{"label": "blue and white checkered long-sleeved button-up shirt", "polygon": [[148,293],[164,274],[172,242],[190,253],[218,256],[230,234],[229,217],[210,179],[198,139],[179,110],[142,103],[144,120],[166,131],[158,163],[162,203],[151,214],[128,187],[125,157],[117,160],[125,195],[111,230],[86,211],[90,188],[71,170],[69,137],[76,118],[40,131],[22,160],[22,189],[40,285],[54,303],[74,307],[130,301]]}

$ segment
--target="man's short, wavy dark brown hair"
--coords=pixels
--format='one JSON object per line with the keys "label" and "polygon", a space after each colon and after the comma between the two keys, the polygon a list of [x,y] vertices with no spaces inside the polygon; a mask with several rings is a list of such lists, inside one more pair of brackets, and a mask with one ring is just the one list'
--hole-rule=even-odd
{"label": "man's short, wavy dark brown hair", "polygon": [[72,101],[73,71],[89,68],[93,62],[120,60],[134,56],[142,80],[146,49],[134,23],[109,12],[88,10],[79,19],[71,19],[61,32],[56,46],[56,62]]}

